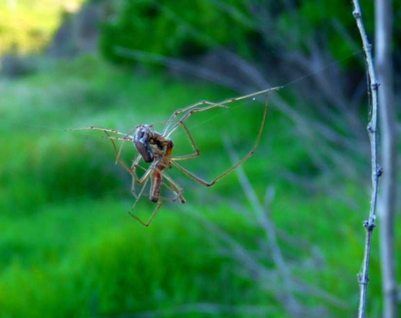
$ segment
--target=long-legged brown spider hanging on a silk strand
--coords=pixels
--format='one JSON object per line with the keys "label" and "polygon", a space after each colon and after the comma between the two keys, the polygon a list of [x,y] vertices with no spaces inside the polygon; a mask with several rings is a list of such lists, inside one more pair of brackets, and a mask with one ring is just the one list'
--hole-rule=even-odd
{"label": "long-legged brown spider hanging on a silk strand", "polygon": [[[262,135],[262,130],[264,126],[264,122],[266,119],[266,114],[267,114],[267,95],[269,92],[272,91],[278,91],[282,86],[278,87],[273,87],[269,89],[265,89],[262,91],[258,91],[255,93],[247,94],[244,96],[240,97],[235,97],[235,98],[230,98],[227,100],[223,100],[220,102],[210,102],[207,100],[202,100],[199,102],[196,102],[192,105],[189,105],[184,108],[180,108],[176,110],[171,117],[167,120],[165,127],[163,129],[162,133],[158,133],[157,131],[154,130],[153,125],[146,125],[146,124],[140,124],[137,125],[132,131],[130,131],[128,134],[121,133],[117,130],[114,129],[108,129],[108,128],[101,128],[101,127],[95,127],[95,126],[90,126],[90,127],[84,127],[84,128],[76,128],[76,129],[70,129],[70,130],[83,130],[83,129],[95,129],[95,130],[101,130],[105,132],[106,138],[108,138],[111,143],[113,144],[113,148],[116,154],[116,163],[119,162],[122,167],[128,171],[128,173],[132,176],[132,185],[131,185],[131,192],[135,197],[135,202],[132,206],[131,211],[129,214],[135,218],[136,220],[139,221],[140,224],[148,227],[152,220],[156,217],[157,212],[160,210],[163,200],[167,198],[163,198],[160,196],[160,191],[162,186],[164,185],[167,187],[171,192],[174,193],[175,197],[173,201],[176,201],[179,199],[181,203],[185,203],[185,199],[183,197],[184,190],[182,187],[180,187],[177,183],[173,181],[173,179],[167,174],[166,168],[171,168],[175,167],[179,170],[181,170],[185,175],[190,177],[192,180],[198,182],[199,184],[203,184],[205,186],[212,186],[213,184],[216,184],[218,181],[223,179],[227,174],[232,172],[235,168],[237,168],[239,165],[244,163],[249,157],[251,157],[256,148],[258,147],[259,141],[261,139]],[[192,134],[190,130],[188,129],[187,125],[185,124],[185,121],[191,117],[195,113],[200,113],[200,112],[205,112],[208,111],[212,108],[215,107],[224,107],[224,108],[229,108],[226,106],[226,104],[237,101],[237,100],[244,100],[250,97],[254,97],[260,94],[266,94],[266,100],[264,103],[264,110],[263,110],[263,115],[262,115],[262,122],[261,126],[259,128],[258,135],[256,137],[256,141],[252,149],[240,160],[238,161],[235,165],[227,169],[225,172],[217,176],[215,179],[213,179],[210,182],[207,182],[200,177],[196,176],[186,168],[182,167],[180,164],[178,164],[178,161],[182,160],[188,160],[192,159],[194,157],[197,157],[200,155],[200,150],[196,146]],[[179,119],[177,119],[177,117]],[[170,135],[174,133],[174,131],[179,127],[182,126],[184,128],[184,131],[186,132],[189,141],[191,142],[192,148],[193,148],[193,153],[183,155],[183,156],[173,156],[172,151],[174,148],[174,142],[170,138]],[[119,136],[112,136],[110,133],[120,135]],[[121,140],[122,145],[120,149],[117,149],[115,140]],[[120,156],[121,151],[122,151],[122,146],[124,145],[125,142],[131,141],[133,142],[135,148],[138,151],[138,154],[136,155],[135,159],[132,161],[131,167],[128,167],[125,162],[122,161],[122,158]],[[142,167],[139,163],[141,159],[146,162],[150,163],[150,166],[146,169]],[[137,169],[141,169],[144,171],[143,175],[141,177],[138,176],[137,174]],[[135,214],[133,214],[135,205],[141,198],[141,196],[144,193],[145,187],[148,184],[149,180],[151,181],[151,186],[150,186],[150,192],[149,192],[149,199],[152,202],[157,203],[157,206],[155,210],[153,211],[151,217],[148,219],[147,222],[142,221],[139,219]],[[139,184],[141,186],[141,189],[139,193],[137,194],[135,192],[135,185]]]}

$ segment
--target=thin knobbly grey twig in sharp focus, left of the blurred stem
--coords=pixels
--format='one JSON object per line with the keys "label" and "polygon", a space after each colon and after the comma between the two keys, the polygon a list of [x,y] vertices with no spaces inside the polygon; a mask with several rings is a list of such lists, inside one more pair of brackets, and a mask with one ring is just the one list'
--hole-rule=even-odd
{"label": "thin knobbly grey twig in sharp focus, left of the blurred stem", "polygon": [[376,226],[376,205],[377,205],[377,188],[379,177],[382,174],[382,169],[378,168],[377,164],[377,109],[378,109],[378,87],[379,83],[376,80],[376,74],[373,67],[372,58],[372,46],[370,45],[365,27],[362,20],[361,7],[358,0],[352,0],[354,4],[354,10],[352,15],[355,17],[356,24],[361,33],[362,45],[365,51],[366,58],[366,68],[367,68],[367,79],[368,79],[368,94],[370,95],[370,107],[371,115],[370,120],[367,125],[367,132],[370,139],[370,151],[371,151],[371,165],[372,165],[372,194],[370,199],[370,210],[369,218],[364,221],[364,226],[366,228],[366,241],[365,241],[365,254],[362,263],[362,271],[358,274],[358,282],[360,285],[360,297],[359,297],[359,308],[358,308],[358,318],[364,318],[366,314],[366,293],[367,293],[367,282],[369,280],[369,260],[370,260],[370,250],[372,244],[372,232]]}

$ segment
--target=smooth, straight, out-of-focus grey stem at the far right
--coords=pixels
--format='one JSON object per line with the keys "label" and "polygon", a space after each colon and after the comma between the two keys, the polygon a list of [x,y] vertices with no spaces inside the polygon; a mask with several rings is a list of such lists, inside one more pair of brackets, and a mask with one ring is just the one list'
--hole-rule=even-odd
{"label": "smooth, straight, out-of-focus grey stem at the far right", "polygon": [[394,218],[397,193],[397,123],[394,109],[393,72],[391,61],[391,0],[375,4],[375,57],[379,91],[381,152],[385,170],[379,197],[380,252],[383,286],[383,317],[397,318],[397,281],[394,250]]}

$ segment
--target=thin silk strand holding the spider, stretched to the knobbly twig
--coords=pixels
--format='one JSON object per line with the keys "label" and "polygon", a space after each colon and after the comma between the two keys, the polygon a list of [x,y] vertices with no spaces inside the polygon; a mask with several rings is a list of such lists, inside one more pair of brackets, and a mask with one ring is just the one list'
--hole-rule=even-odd
{"label": "thin silk strand holding the spider, stretched to the knobbly twig", "polygon": [[[313,72],[310,72],[310,73],[308,73],[308,74],[306,74],[306,75],[303,75],[303,76],[301,76],[301,77],[298,77],[298,78],[296,78],[295,80],[290,81],[290,82],[288,82],[288,83],[286,83],[286,84],[283,84],[283,85],[281,85],[281,86],[276,86],[276,87],[279,87],[279,88],[278,88],[277,90],[275,90],[275,91],[280,91],[280,90],[282,90],[282,89],[284,89],[284,88],[286,88],[286,87],[288,87],[288,86],[290,86],[290,85],[293,85],[293,84],[295,84],[295,83],[297,83],[297,82],[300,82],[300,81],[302,81],[302,80],[304,80],[304,79],[306,79],[306,78],[309,78],[309,77],[311,77],[311,76],[313,76],[313,75],[315,75],[315,74],[318,74],[318,73],[320,73],[321,71],[323,71],[323,70],[325,70],[325,69],[331,67],[332,65],[336,65],[336,64],[338,64],[338,63],[340,63],[340,62],[342,62],[342,61],[345,61],[345,60],[349,59],[350,57],[352,57],[352,56],[354,56],[354,55],[357,55],[357,54],[362,53],[363,51],[364,51],[363,49],[357,50],[357,51],[353,51],[353,52],[350,53],[349,55],[347,55],[347,56],[345,56],[345,57],[343,57],[343,58],[337,59],[337,60],[335,60],[335,61],[332,61],[331,63],[329,63],[329,64],[327,64],[327,65],[324,65],[323,67],[319,67],[317,70],[315,70],[315,71],[313,71]],[[271,88],[274,88],[274,87],[275,87],[275,86],[272,86]],[[268,90],[268,89],[269,89],[269,88],[266,88],[266,90]],[[256,97],[256,96],[259,96],[259,95],[262,95],[262,94],[269,94],[269,91],[260,93],[260,94],[258,94],[258,95],[254,95],[253,98],[252,98],[252,100],[255,100],[255,97]],[[240,96],[237,96],[237,97],[240,97]],[[237,97],[234,97],[234,98],[237,98]],[[230,100],[230,98],[228,98],[228,99],[226,99],[226,100]],[[246,100],[246,99],[244,99],[244,100]],[[225,100],[224,100],[224,101],[225,101]],[[221,102],[221,101],[215,102],[215,103],[218,104],[218,103],[220,103],[220,102]],[[196,128],[197,126],[203,125],[203,124],[209,122],[210,120],[215,119],[216,117],[223,116],[223,115],[227,114],[227,112],[229,112],[229,111],[232,111],[232,110],[234,110],[234,109],[237,109],[237,108],[239,108],[239,107],[244,106],[244,104],[245,104],[245,103],[243,102],[243,103],[241,103],[241,104],[239,104],[239,105],[237,105],[237,106],[234,106],[234,107],[227,107],[227,109],[226,109],[225,111],[221,112],[220,114],[211,116],[211,117],[209,117],[208,119],[206,119],[205,121],[202,121],[202,122],[200,122],[200,123],[197,123],[197,124],[192,125],[190,128]],[[9,120],[8,120],[8,119],[2,119],[2,118],[0,118],[0,121],[7,122],[7,121],[9,121]],[[168,120],[159,121],[159,122],[156,122],[156,123],[153,123],[153,124],[163,123],[163,122],[167,122],[167,121],[168,121]],[[20,121],[20,120],[16,120],[16,121],[13,121],[12,123],[10,123],[10,125],[14,125],[14,124],[15,124],[15,125],[19,125],[19,126],[25,126],[25,127],[33,127],[33,128],[44,129],[44,130],[63,131],[63,132],[65,132],[66,130],[68,131],[68,130],[70,129],[70,128],[56,128],[56,127],[51,127],[51,126],[46,126],[46,125],[38,125],[38,124],[28,124],[28,123],[22,122],[22,121]],[[183,133],[183,132],[177,132],[175,135],[179,135],[179,134],[182,134],[182,133]],[[85,134],[85,135],[90,135],[90,136],[93,135],[93,134],[84,133],[84,132],[81,132],[80,134]]]}

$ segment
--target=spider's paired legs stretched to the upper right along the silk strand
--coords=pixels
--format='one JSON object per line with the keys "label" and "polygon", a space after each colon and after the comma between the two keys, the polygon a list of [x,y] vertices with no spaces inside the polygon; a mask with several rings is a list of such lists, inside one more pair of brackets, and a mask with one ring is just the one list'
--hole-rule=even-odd
{"label": "spider's paired legs stretched to the upper right along the silk strand", "polygon": [[[174,119],[177,115],[179,115],[180,113],[183,113],[185,111],[187,111],[187,113],[183,117],[181,117],[181,119],[178,121],[178,123],[176,123],[173,126],[173,128],[170,130],[170,132],[167,134],[168,128],[170,127],[170,124],[171,124],[171,122],[169,120],[169,122],[167,123],[167,125],[166,125],[166,127],[164,129],[163,135],[165,135],[166,137],[169,137],[170,134],[172,134],[174,132],[174,130],[177,129],[177,127],[179,125],[179,122],[187,119],[187,117],[191,116],[194,112],[203,112],[205,110],[208,110],[208,109],[211,109],[211,108],[214,108],[214,107],[224,107],[228,103],[231,103],[231,102],[234,102],[234,101],[237,101],[237,100],[244,100],[244,99],[247,99],[247,98],[250,98],[250,97],[261,95],[263,93],[269,93],[269,92],[273,92],[273,91],[278,91],[281,88],[283,88],[283,86],[276,86],[276,87],[272,87],[272,88],[267,88],[267,89],[263,89],[263,90],[261,90],[259,92],[255,92],[255,93],[251,93],[251,94],[247,94],[247,95],[243,95],[243,96],[239,96],[239,97],[229,98],[227,100],[223,100],[223,101],[216,102],[216,103],[212,103],[212,102],[209,102],[209,101],[200,101],[200,102],[192,104],[192,105],[190,105],[188,107],[178,109],[170,117],[171,119]],[[196,106],[199,106],[199,105],[202,105],[202,104],[209,104],[209,106],[202,107],[202,108],[195,108]]]}

